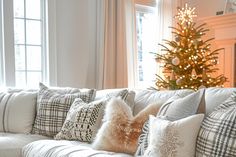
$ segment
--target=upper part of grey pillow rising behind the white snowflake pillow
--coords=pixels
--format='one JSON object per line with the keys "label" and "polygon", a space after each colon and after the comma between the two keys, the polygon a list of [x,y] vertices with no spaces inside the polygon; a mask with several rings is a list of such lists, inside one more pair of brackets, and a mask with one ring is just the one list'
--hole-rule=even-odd
{"label": "upper part of grey pillow rising behind the white snowflake pillow", "polygon": [[168,120],[179,120],[195,113],[205,113],[205,90],[201,89],[186,97],[171,97],[162,105],[158,116],[166,116]]}

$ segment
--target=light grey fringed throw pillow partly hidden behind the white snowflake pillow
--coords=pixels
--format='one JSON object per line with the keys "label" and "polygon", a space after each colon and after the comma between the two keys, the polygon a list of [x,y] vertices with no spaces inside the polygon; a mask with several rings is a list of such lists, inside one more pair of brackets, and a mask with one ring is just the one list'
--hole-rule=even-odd
{"label": "light grey fringed throw pillow partly hidden behind the white snowflake pillow", "polygon": [[[205,112],[205,90],[201,89],[195,93],[192,93],[186,97],[175,95],[168,99],[165,104],[162,105],[158,116],[165,116],[168,120],[178,120],[188,117],[196,113]],[[145,150],[148,147],[148,122],[143,126],[143,131],[139,137],[138,148],[135,153],[136,156],[143,156]]]}

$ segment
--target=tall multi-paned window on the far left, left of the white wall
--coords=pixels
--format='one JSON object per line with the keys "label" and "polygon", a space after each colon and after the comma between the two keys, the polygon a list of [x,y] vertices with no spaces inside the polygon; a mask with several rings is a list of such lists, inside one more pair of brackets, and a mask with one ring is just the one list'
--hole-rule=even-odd
{"label": "tall multi-paned window on the far left, left of the white wall", "polygon": [[[3,13],[5,20],[3,21],[4,32],[13,32],[10,34],[4,33],[4,35],[13,36],[13,41],[6,40],[4,43],[6,49],[0,59],[2,62],[5,59],[6,62],[4,67],[5,78],[0,79],[7,80],[10,78],[12,81],[5,82],[7,86],[37,87],[38,82],[47,82],[48,80],[46,0],[11,0],[3,2],[5,2],[5,4],[3,3],[4,8],[8,5],[13,12],[13,14],[7,14],[6,11],[4,12],[6,14]],[[13,21],[6,21],[9,19],[13,19]],[[3,38],[5,38],[4,35]],[[14,47],[11,49],[9,48],[10,45],[14,45]],[[3,57],[4,54],[6,55],[5,58]],[[10,64],[14,66],[10,68],[11,66],[8,66]],[[0,68],[3,69],[3,67]],[[4,74],[3,71],[0,72]]]}

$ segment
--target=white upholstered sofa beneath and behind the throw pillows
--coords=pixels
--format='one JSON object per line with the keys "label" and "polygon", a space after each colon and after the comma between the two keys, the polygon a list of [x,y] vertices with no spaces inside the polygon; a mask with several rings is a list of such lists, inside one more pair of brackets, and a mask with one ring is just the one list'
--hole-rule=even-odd
{"label": "white upholstered sofa beneath and behind the throw pillows", "polygon": [[[118,89],[110,89],[110,90],[101,90],[97,91],[95,100],[99,100],[107,93],[118,90]],[[213,109],[225,101],[236,88],[208,88],[205,92],[205,102],[206,102],[206,114],[209,114]],[[136,115],[140,112],[145,106],[151,104],[153,102],[158,102],[160,105],[167,101],[170,97],[174,96],[175,94],[180,94],[186,96],[194,91],[192,90],[175,90],[175,91],[155,91],[155,90],[134,90],[135,95],[135,105],[133,108],[133,114]],[[7,100],[7,99],[6,99]],[[6,101],[5,100],[5,101]],[[22,115],[30,115],[35,111],[32,111],[32,108],[35,110],[36,108],[36,100],[32,103],[31,107],[27,107],[24,109]],[[14,101],[13,101],[14,102]],[[19,102],[16,101],[17,104],[14,105],[21,105]],[[3,112],[15,112],[18,113],[14,107],[10,106],[8,108],[4,108],[4,100],[1,99],[0,96],[0,111]],[[21,107],[17,107],[21,108]],[[29,109],[31,108],[31,109]],[[19,109],[20,111],[20,109]],[[2,123],[9,123],[8,130],[5,132],[0,132],[0,157],[62,157],[62,156],[76,156],[76,157],[90,157],[90,156],[119,156],[119,157],[128,157],[131,156],[129,154],[121,154],[121,153],[114,153],[114,152],[106,152],[106,151],[98,151],[91,148],[91,144],[79,142],[79,141],[66,141],[66,140],[53,140],[49,137],[44,137],[40,135],[30,134],[30,132],[19,131],[17,129],[14,130],[14,127],[21,126],[22,122],[19,122],[21,118],[16,118],[17,114],[15,113],[3,113],[0,112],[0,126],[3,125]],[[6,118],[2,118],[8,115],[8,121],[6,122]],[[11,116],[11,117],[9,117]],[[23,116],[24,117],[24,116]],[[30,118],[31,116],[25,116],[24,118]],[[28,124],[32,125],[31,123],[34,121],[35,116]],[[19,127],[20,127],[19,126]],[[0,127],[1,130],[1,127]],[[13,130],[13,131],[12,131]]]}

